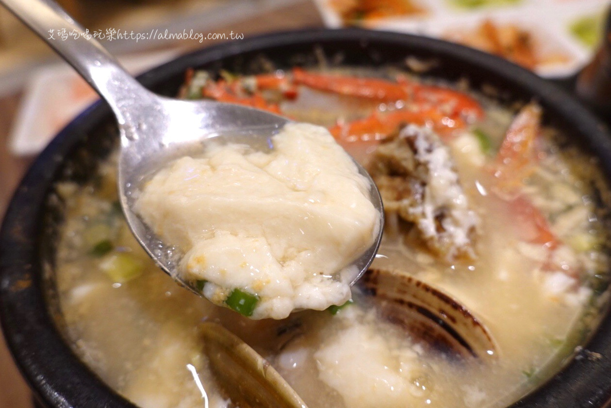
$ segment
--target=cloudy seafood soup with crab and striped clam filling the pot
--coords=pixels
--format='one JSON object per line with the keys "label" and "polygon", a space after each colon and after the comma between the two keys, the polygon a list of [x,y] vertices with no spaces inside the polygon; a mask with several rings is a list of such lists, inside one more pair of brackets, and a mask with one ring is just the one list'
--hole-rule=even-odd
{"label": "cloudy seafood soup with crab and striped clam filling the pot", "polygon": [[182,90],[326,126],[367,166],[386,226],[342,306],[256,321],[216,306],[137,245],[117,207],[113,157],[90,184],[57,186],[63,316],[104,381],[145,408],[201,407],[195,370],[210,407],[234,406],[205,354],[207,320],[251,345],[310,408],[499,407],[584,342],[609,267],[596,163],[561,149],[535,103],[509,109],[374,74],[197,71]]}

